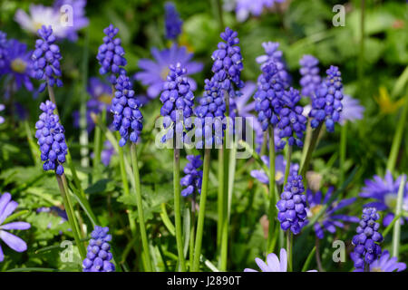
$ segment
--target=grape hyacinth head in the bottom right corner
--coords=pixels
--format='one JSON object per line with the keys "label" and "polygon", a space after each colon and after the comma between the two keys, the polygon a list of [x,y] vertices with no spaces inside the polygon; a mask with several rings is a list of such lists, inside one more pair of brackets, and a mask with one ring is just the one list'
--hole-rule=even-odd
{"label": "grape hyacinth head in the bottom right corner", "polygon": [[365,263],[370,265],[381,255],[382,250],[377,243],[381,243],[384,238],[378,232],[380,224],[376,221],[379,218],[376,208],[363,209],[363,215],[356,230],[357,235],[353,237],[355,251],[350,255],[357,270],[364,270]]}

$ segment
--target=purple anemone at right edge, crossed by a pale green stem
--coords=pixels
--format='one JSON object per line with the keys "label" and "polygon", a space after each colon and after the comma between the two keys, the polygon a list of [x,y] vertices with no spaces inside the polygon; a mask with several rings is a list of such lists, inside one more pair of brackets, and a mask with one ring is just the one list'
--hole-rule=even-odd
{"label": "purple anemone at right edge, crossed by a pale green stem", "polygon": [[[362,189],[360,197],[377,199],[377,201],[365,204],[364,207],[389,211],[383,219],[384,227],[387,227],[393,221],[393,212],[396,207],[401,179],[403,179],[403,176],[393,180],[393,175],[387,170],[384,179],[374,175],[373,179],[366,179],[364,181],[365,187]],[[405,184],[403,189],[403,210],[408,210],[408,183]],[[408,218],[405,219],[408,220]],[[401,221],[403,223],[403,218]]]}

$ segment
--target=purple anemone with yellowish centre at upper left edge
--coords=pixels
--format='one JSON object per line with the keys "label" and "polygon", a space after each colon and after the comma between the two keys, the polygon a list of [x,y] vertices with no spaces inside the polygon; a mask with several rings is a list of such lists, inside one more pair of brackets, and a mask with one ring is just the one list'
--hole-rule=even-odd
{"label": "purple anemone with yellowish centre at upper left edge", "polygon": [[33,91],[33,83],[30,78],[34,78],[32,51],[27,51],[27,45],[11,39],[7,43],[5,65],[2,74],[8,74],[15,80],[15,90],[19,90],[22,85],[27,91]]}

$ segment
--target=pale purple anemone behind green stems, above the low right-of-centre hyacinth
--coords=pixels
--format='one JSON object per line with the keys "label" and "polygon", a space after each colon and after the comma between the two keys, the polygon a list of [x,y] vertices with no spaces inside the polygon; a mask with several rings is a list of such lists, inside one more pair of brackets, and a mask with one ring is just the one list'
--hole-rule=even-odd
{"label": "pale purple anemone behind green stems, above the low right-of-centre hyacinth", "polygon": [[[261,160],[267,165],[269,168],[269,158],[267,156],[262,156]],[[282,155],[277,155],[275,159],[275,180],[277,184],[282,185],[285,179],[285,170],[287,168],[287,160],[284,159]],[[291,163],[290,165],[290,174],[296,173],[299,170],[299,165],[297,163]],[[254,179],[259,180],[264,184],[269,184],[269,178],[267,173],[264,170],[252,170],[251,176]]]}

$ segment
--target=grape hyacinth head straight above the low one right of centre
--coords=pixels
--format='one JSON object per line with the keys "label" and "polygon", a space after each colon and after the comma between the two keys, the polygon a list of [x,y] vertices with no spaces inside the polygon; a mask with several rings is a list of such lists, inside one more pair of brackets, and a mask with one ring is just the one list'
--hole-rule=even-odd
{"label": "grape hyacinth head straight above the low one right of centre", "polygon": [[[307,121],[306,117],[302,114],[303,107],[297,104],[300,99],[299,91],[293,88],[284,92],[282,96],[284,107],[279,111],[280,120],[277,123],[279,138],[287,137],[289,145],[293,146],[296,144],[297,147],[303,146],[302,138],[306,131]],[[285,146],[284,140],[281,140],[280,143],[283,143],[283,146]],[[281,144],[279,144],[279,147],[282,147]]]}

